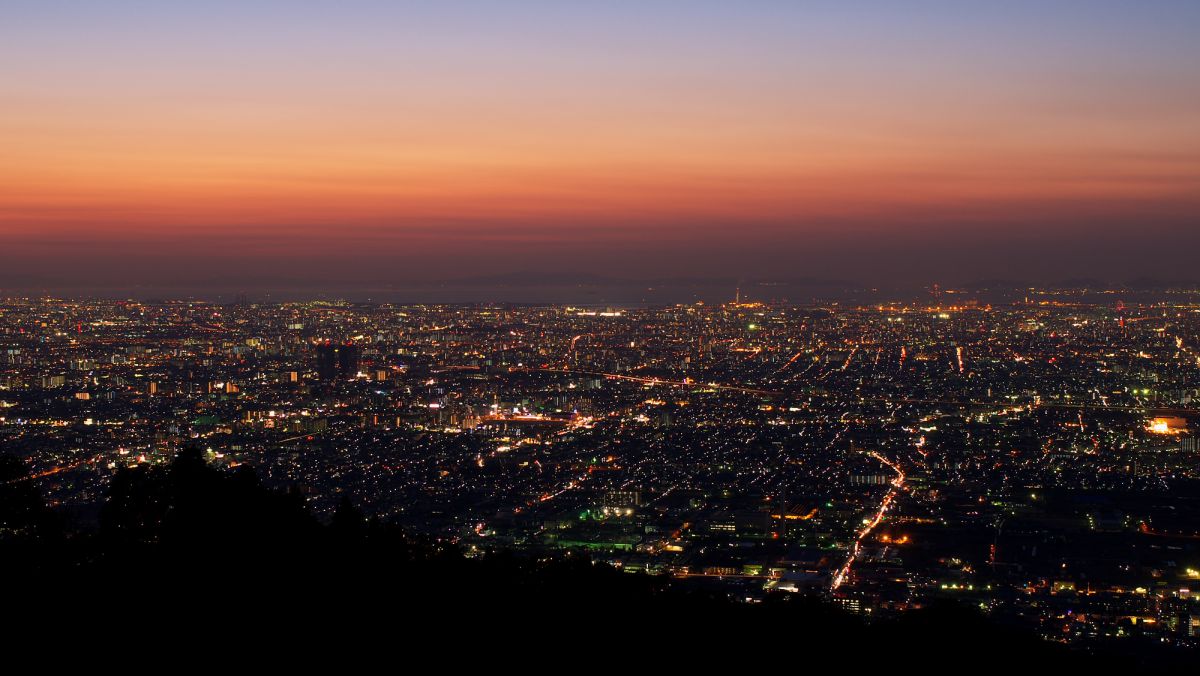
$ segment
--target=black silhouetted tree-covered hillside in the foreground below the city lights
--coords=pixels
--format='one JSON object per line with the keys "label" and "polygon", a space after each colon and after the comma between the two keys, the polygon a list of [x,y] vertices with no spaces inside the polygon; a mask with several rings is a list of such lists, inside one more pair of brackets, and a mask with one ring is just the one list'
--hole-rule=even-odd
{"label": "black silhouetted tree-covered hillside in the foreground below the city lights", "polygon": [[1194,657],[1085,653],[953,605],[869,622],[791,594],[745,604],[680,591],[578,555],[466,557],[365,519],[349,501],[324,525],[299,493],[264,487],[248,466],[212,468],[194,450],[118,472],[98,528],[70,527],[26,478],[0,455],[4,597],[28,628],[54,621],[55,640],[148,627],[359,641],[388,633],[409,651],[433,650],[426,640],[485,644],[509,657],[614,665],[642,647],[672,664],[793,656],[808,665],[967,670],[1154,669]]}

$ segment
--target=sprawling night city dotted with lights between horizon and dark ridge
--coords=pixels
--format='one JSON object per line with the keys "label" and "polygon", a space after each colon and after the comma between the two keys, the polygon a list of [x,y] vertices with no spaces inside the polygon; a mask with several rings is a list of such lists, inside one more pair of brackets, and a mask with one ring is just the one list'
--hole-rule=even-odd
{"label": "sprawling night city dotted with lights between horizon and dark ridge", "polygon": [[[1200,294],[658,307],[6,299],[0,450],[78,519],[197,448],[328,519],[761,603],[1200,641]],[[1092,294],[1097,295],[1097,294]]]}

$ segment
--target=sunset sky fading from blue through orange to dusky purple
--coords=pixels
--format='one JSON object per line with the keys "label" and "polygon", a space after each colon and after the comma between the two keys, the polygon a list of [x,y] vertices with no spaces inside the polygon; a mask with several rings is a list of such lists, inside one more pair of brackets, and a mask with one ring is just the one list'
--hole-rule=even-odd
{"label": "sunset sky fading from blue through orange to dusky purple", "polygon": [[1200,280],[1200,2],[6,0],[5,289]]}

